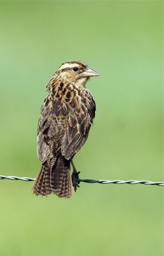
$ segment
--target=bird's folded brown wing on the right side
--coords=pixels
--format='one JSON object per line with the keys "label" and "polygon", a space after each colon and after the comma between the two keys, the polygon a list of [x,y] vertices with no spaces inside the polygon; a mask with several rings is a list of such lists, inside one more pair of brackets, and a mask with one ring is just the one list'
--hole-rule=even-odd
{"label": "bird's folded brown wing on the right side", "polygon": [[80,109],[82,113],[70,112],[68,127],[61,145],[61,153],[68,160],[78,153],[86,142],[92,120],[95,116],[96,107],[94,99],[87,99],[83,103],[85,105],[82,104]]}

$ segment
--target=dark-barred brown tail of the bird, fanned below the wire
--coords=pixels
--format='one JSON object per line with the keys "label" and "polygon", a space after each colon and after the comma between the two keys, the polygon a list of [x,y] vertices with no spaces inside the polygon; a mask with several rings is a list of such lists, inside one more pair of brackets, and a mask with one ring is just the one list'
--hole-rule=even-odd
{"label": "dark-barred brown tail of the bird, fanned below the wire", "polygon": [[45,161],[37,174],[32,191],[33,194],[42,196],[53,193],[60,198],[72,197],[73,189],[70,161],[60,155],[52,168]]}

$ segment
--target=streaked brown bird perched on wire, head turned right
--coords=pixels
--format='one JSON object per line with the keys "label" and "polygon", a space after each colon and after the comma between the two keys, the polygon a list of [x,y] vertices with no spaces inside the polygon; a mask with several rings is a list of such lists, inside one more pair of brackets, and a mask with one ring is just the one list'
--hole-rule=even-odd
{"label": "streaked brown bird perched on wire, head turned right", "polygon": [[[32,186],[36,196],[56,194],[71,198],[76,192],[79,172],[73,157],[86,142],[96,112],[96,104],[86,82],[100,76],[86,63],[61,64],[46,85],[37,129],[37,156],[42,166]],[[70,163],[73,167],[71,177]]]}

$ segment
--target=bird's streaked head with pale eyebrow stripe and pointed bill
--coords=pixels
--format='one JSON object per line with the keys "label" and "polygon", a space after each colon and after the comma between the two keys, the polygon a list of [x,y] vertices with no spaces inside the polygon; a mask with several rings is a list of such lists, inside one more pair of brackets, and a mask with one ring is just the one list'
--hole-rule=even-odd
{"label": "bird's streaked head with pale eyebrow stripe and pointed bill", "polygon": [[63,81],[76,83],[78,86],[83,87],[85,87],[90,77],[100,76],[97,72],[80,61],[64,62],[55,74]]}

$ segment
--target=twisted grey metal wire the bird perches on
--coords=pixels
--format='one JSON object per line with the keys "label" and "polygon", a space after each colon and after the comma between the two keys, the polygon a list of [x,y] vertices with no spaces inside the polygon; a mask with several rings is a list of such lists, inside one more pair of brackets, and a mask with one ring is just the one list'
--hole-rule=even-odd
{"label": "twisted grey metal wire the bird perches on", "polygon": [[[35,178],[28,178],[28,177],[16,177],[16,176],[4,176],[0,175],[0,179],[11,179],[11,180],[23,180],[23,181],[34,181]],[[149,180],[94,180],[94,179],[76,179],[76,182],[86,182],[86,183],[100,183],[100,184],[145,184],[145,185],[157,185],[157,186],[164,186],[164,182],[152,182]]]}

